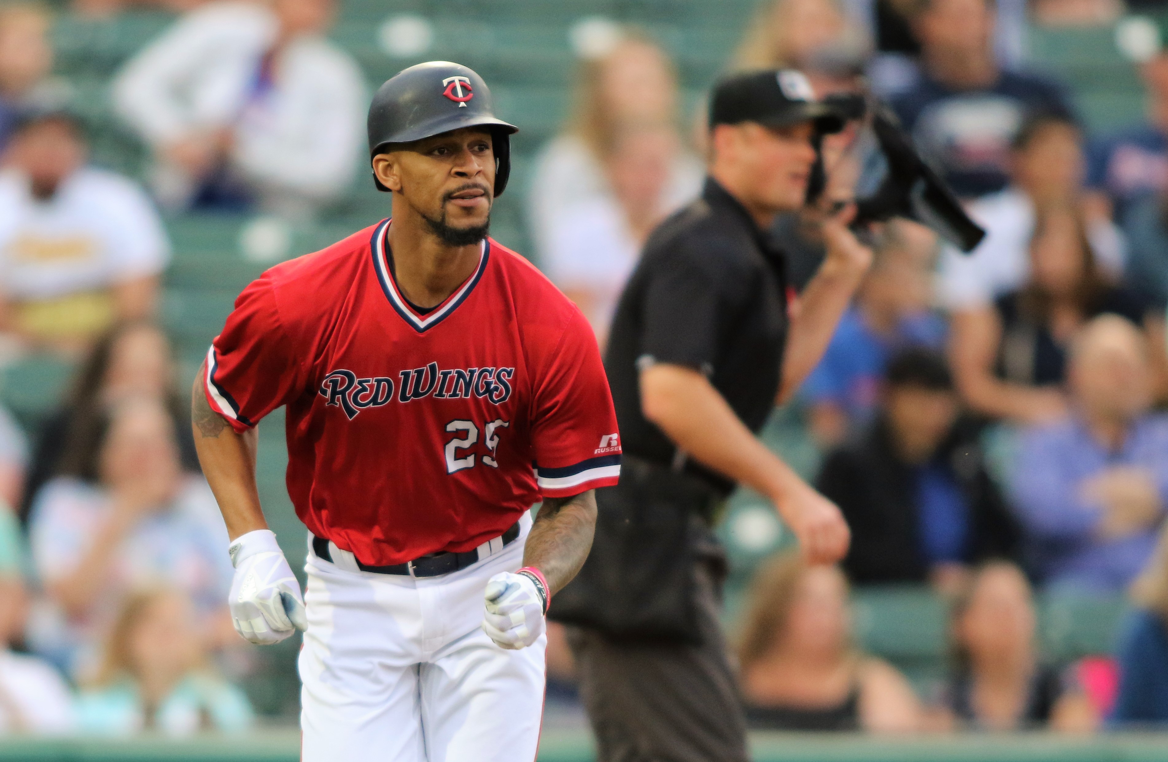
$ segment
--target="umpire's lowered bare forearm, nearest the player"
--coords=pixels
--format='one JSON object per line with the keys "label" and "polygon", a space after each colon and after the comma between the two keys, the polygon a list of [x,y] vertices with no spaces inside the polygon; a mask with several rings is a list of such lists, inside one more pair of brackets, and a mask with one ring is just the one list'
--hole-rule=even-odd
{"label": "umpire's lowered bare forearm, nearest the player", "polygon": [[802,480],[758,441],[697,371],[659,364],[641,372],[641,406],[689,457],[784,505]]}

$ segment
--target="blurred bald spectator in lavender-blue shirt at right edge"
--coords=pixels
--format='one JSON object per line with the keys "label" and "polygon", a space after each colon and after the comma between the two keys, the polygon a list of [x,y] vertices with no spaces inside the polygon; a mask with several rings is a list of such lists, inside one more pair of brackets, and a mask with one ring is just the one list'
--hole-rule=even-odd
{"label": "blurred bald spectator in lavender-blue shirt at right edge", "polygon": [[1048,586],[1122,590],[1155,545],[1168,498],[1168,417],[1148,412],[1147,345],[1104,315],[1071,344],[1071,414],[1031,428],[1010,480],[1028,554]]}

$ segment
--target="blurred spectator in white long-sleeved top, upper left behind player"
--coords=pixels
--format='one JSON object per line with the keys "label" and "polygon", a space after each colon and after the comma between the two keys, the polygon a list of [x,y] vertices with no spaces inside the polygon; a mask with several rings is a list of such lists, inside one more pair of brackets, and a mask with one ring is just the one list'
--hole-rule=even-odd
{"label": "blurred spectator in white long-sleeved top, upper left behind player", "polygon": [[169,208],[253,203],[300,219],[349,186],[364,81],[325,37],[334,0],[223,0],[180,19],[113,85]]}

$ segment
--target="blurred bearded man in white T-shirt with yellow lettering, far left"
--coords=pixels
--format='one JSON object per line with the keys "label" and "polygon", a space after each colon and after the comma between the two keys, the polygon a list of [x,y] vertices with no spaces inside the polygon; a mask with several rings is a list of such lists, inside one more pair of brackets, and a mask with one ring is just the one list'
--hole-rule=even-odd
{"label": "blurred bearded man in white T-shirt with yellow lettering, far left", "polygon": [[33,344],[85,345],[146,317],[169,243],[130,180],[85,165],[81,125],[27,114],[0,172],[0,328]]}

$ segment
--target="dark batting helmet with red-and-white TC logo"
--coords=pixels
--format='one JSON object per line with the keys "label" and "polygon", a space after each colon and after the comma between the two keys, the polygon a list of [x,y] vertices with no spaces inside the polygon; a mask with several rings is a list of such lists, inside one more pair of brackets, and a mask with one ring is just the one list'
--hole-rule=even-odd
{"label": "dark batting helmet with red-and-white TC logo", "polygon": [[[510,175],[510,134],[519,127],[496,119],[482,77],[458,63],[430,61],[403,69],[374,93],[369,105],[369,161],[395,142],[412,142],[461,127],[491,128],[495,196]],[[377,180],[377,190],[389,190]]]}

